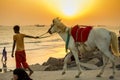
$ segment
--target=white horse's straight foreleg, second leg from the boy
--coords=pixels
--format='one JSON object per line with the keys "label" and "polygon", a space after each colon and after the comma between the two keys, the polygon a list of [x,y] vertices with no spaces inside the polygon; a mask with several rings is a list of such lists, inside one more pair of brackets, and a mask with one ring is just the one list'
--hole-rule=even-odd
{"label": "white horse's straight foreleg, second leg from the boy", "polygon": [[72,53],[73,53],[73,56],[75,58],[75,62],[76,62],[77,68],[78,68],[78,74],[75,77],[79,78],[82,71],[81,71],[81,67],[80,67],[80,61],[79,61],[79,58],[78,58],[78,51],[77,50],[72,50]]}

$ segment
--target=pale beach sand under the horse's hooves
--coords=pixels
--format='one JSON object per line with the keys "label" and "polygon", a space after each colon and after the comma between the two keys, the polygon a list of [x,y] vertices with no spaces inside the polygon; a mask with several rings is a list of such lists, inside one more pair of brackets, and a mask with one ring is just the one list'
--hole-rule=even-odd
{"label": "pale beach sand under the horse's hooves", "polygon": [[[96,77],[100,70],[87,70],[82,71],[80,78],[75,78],[77,70],[68,70],[65,75],[61,75],[62,71],[34,71],[31,75],[33,80],[109,80],[112,74],[111,69],[105,69],[102,77]],[[0,73],[0,80],[11,80],[12,72]],[[114,80],[120,79],[120,71],[116,70]]]}

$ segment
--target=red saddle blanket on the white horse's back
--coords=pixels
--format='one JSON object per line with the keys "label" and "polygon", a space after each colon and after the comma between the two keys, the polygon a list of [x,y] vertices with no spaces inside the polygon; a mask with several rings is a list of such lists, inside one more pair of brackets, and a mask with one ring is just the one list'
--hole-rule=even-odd
{"label": "red saddle blanket on the white horse's back", "polygon": [[85,26],[85,28],[80,28],[79,25],[74,26],[71,29],[71,35],[73,36],[75,42],[85,42],[89,36],[92,26]]}

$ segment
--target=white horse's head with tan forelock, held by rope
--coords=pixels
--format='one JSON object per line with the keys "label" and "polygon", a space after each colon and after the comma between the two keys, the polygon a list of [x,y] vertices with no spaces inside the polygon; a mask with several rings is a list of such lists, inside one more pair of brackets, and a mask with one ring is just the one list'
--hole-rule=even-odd
{"label": "white horse's head with tan forelock, held by rope", "polygon": [[55,19],[53,19],[53,22],[52,22],[51,27],[48,30],[48,32],[50,34],[60,33],[60,32],[63,32],[65,30],[65,28],[66,27],[63,23],[61,23],[61,20],[59,18],[55,18]]}

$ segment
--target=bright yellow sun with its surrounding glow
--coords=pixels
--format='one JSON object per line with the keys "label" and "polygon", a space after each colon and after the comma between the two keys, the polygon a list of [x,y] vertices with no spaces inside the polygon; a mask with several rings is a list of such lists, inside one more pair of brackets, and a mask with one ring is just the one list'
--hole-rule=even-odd
{"label": "bright yellow sun with its surrounding glow", "polygon": [[42,0],[51,13],[59,17],[75,18],[87,13],[96,0]]}

